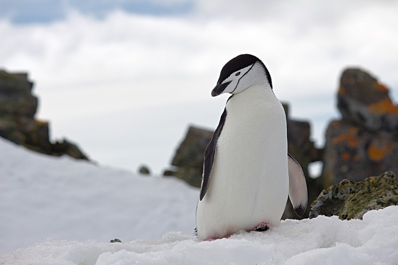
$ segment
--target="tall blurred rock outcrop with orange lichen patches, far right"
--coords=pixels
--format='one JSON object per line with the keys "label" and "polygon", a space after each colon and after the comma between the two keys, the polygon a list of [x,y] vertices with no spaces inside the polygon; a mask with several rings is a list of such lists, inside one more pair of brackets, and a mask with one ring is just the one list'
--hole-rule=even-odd
{"label": "tall blurred rock outcrop with orange lichen patches, far right", "polygon": [[337,99],[342,119],[332,121],[326,132],[323,186],[398,172],[398,106],[388,88],[362,70],[347,69]]}

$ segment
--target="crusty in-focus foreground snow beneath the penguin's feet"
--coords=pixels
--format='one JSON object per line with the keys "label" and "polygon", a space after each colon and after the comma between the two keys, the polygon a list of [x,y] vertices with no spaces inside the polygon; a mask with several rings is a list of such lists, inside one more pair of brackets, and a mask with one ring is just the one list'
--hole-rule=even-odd
{"label": "crusty in-focus foreground snow beneath the penguin's feet", "polygon": [[160,240],[84,243],[46,239],[0,256],[4,264],[397,264],[398,206],[370,211],[363,220],[336,216],[285,220],[266,232],[240,232],[199,242],[182,232]]}

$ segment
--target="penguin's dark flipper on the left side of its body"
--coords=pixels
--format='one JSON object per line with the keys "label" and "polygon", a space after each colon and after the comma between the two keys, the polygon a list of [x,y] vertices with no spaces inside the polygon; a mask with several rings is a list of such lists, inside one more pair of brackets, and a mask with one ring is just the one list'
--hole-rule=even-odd
{"label": "penguin's dark flipper on the left side of its body", "polygon": [[202,174],[202,186],[200,187],[200,200],[203,199],[209,188],[210,178],[212,176],[214,157],[216,156],[217,140],[220,136],[222,128],[224,127],[225,117],[227,116],[227,109],[221,115],[220,122],[218,123],[216,132],[214,132],[212,140],[207,145],[206,151],[204,152],[203,162],[203,174]]}

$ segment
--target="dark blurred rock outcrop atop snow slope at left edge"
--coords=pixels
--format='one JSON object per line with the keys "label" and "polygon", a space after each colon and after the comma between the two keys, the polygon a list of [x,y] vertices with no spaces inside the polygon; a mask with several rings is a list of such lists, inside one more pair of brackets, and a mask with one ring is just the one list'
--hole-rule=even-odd
{"label": "dark blurred rock outcrop atop snow slope at left edge", "polygon": [[37,152],[88,160],[75,144],[65,139],[50,142],[49,123],[34,118],[38,100],[32,95],[32,87],[26,73],[0,70],[0,136]]}

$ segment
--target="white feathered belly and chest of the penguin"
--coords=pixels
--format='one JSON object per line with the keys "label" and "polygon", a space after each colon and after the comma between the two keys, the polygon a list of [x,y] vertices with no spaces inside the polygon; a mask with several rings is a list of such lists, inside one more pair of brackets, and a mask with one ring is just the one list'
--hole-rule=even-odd
{"label": "white feathered belly and chest of the penguin", "polygon": [[210,185],[198,202],[199,239],[278,225],[288,182],[282,105],[270,89],[249,87],[227,103]]}

